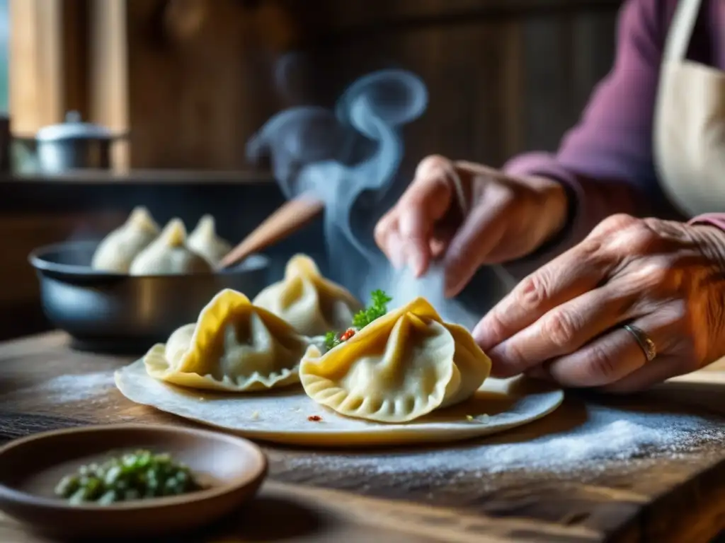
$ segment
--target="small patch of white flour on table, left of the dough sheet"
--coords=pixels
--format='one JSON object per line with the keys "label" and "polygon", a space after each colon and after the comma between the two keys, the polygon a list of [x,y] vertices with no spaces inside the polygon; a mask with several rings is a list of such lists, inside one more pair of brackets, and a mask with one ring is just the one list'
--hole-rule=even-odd
{"label": "small patch of white flour on table, left of the dough sheet", "polygon": [[106,396],[115,387],[112,371],[91,374],[62,375],[33,387],[22,388],[7,395],[4,400],[17,401],[19,396],[42,395],[49,405],[53,403],[83,402]]}

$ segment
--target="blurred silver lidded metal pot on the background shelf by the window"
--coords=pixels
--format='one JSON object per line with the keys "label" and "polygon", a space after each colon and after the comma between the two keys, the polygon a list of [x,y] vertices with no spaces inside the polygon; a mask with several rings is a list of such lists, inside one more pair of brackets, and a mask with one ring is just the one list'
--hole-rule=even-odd
{"label": "blurred silver lidded metal pot on the background shelf by the window", "polygon": [[109,169],[111,146],[125,134],[81,122],[78,111],[70,111],[65,122],[38,130],[33,144],[41,172],[58,174],[70,169]]}

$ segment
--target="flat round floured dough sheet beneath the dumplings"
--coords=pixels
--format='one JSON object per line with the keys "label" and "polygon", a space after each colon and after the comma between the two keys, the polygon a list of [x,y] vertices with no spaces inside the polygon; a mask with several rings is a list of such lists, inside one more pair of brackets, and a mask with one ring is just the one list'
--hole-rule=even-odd
{"label": "flat round floured dough sheet beneath the dumplings", "polygon": [[[494,434],[535,421],[562,403],[562,390],[524,379],[486,379],[465,403],[407,424],[347,418],[310,400],[295,385],[279,392],[227,394],[157,381],[143,361],[119,369],[116,386],[129,400],[240,434],[288,445],[364,447],[448,442]],[[310,421],[310,416],[320,421]],[[472,418],[472,420],[471,420]]]}

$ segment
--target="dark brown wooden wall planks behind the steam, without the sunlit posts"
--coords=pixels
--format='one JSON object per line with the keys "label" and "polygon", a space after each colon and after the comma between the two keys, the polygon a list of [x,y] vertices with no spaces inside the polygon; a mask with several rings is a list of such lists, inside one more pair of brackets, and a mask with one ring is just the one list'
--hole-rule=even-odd
{"label": "dark brown wooden wall planks behind the steam, without the sunlit posts", "polygon": [[[160,0],[127,4],[132,167],[240,168],[247,139],[276,111],[329,105],[382,67],[417,72],[431,93],[407,131],[410,161],[437,152],[499,165],[526,149],[553,150],[610,69],[618,9],[617,1],[196,4],[203,17],[186,33],[169,30]],[[290,51],[304,59],[297,86],[280,88],[276,62]]]}

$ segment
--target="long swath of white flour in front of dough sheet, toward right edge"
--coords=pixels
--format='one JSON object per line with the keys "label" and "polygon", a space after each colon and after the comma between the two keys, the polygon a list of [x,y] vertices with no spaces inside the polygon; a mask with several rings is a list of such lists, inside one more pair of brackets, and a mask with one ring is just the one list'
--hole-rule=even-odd
{"label": "long swath of white flour in front of dough sheet, toward right edge", "polygon": [[312,453],[287,458],[285,464],[292,469],[305,466],[321,471],[352,470],[370,476],[435,472],[455,478],[524,468],[562,473],[610,461],[662,455],[676,458],[711,442],[725,444],[723,423],[720,418],[592,405],[580,426],[550,434],[532,434],[529,427],[523,426],[473,445],[365,454]]}

